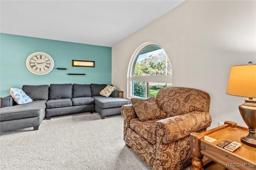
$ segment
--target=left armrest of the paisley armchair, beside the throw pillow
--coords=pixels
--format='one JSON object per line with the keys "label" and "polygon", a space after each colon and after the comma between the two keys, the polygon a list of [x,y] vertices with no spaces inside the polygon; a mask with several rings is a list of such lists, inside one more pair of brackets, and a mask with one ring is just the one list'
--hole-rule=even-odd
{"label": "left armrest of the paisley armchair, beside the throw pillow", "polygon": [[132,104],[129,105],[122,105],[121,107],[121,114],[124,117],[124,140],[127,132],[127,128],[130,127],[130,120],[137,117]]}

